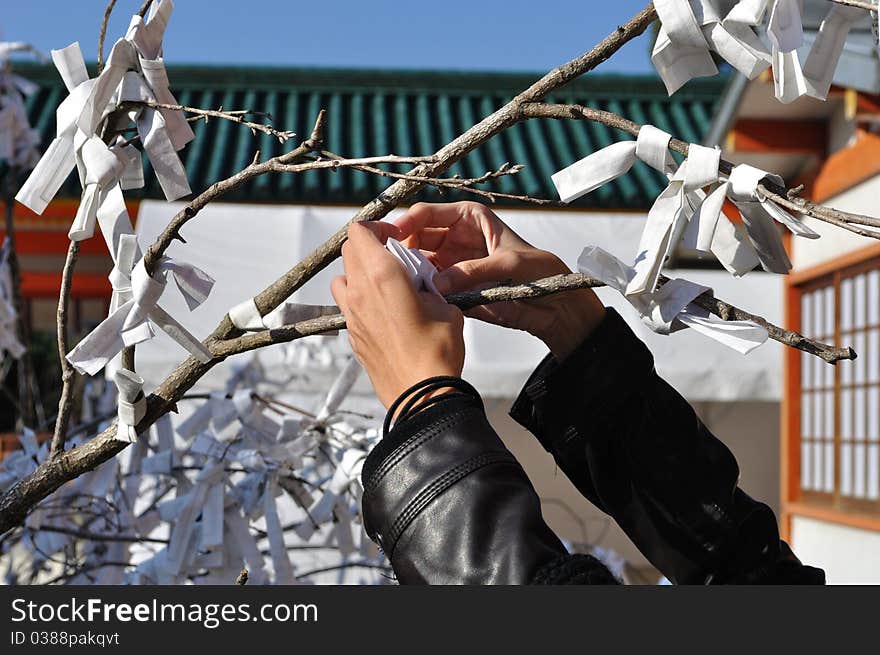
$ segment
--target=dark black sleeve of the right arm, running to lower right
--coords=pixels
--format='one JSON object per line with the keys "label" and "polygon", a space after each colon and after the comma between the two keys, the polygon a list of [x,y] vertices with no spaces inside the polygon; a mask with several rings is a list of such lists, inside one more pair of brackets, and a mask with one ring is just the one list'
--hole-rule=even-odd
{"label": "dark black sleeve of the right arm, running to lower right", "polygon": [[672,582],[824,582],[613,309],[565,361],[538,366],[511,416]]}

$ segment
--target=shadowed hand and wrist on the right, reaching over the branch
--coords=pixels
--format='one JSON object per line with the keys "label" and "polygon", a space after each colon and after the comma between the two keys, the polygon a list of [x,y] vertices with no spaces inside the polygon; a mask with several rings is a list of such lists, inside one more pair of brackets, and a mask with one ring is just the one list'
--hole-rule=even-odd
{"label": "shadowed hand and wrist on the right, reaching over the branch", "polygon": [[[437,267],[434,284],[443,294],[571,272],[476,202],[418,203],[394,222],[403,243],[419,248]],[[475,307],[466,315],[529,332],[562,360],[601,322],[605,308],[592,289],[578,289]]]}

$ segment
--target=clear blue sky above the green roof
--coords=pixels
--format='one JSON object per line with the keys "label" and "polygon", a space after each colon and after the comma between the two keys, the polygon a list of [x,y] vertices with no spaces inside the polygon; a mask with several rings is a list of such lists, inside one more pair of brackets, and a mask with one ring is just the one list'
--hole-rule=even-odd
{"label": "clear blue sky above the green roof", "polygon": [[[106,0],[6,0],[3,40],[44,52],[79,41],[94,60]],[[107,46],[141,0],[118,0]],[[567,61],[647,0],[177,0],[168,63],[540,71]],[[602,8],[607,7],[607,8]],[[648,72],[645,38],[601,70]]]}

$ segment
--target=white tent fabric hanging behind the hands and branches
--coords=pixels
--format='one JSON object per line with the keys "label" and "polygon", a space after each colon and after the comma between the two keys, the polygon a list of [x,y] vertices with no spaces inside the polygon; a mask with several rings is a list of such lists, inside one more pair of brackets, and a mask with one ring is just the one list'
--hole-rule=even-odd
{"label": "white tent fabric hanging behind the hands and branches", "polygon": [[[184,205],[144,201],[137,235],[146,248],[171,217]],[[246,205],[215,203],[202,210],[183,228],[187,244],[176,242],[172,257],[187,261],[216,278],[208,300],[190,312],[178,294],[166,294],[163,306],[199,338],[204,338],[233,305],[254,296],[343,225],[356,212],[351,207],[305,205]],[[586,245],[597,245],[624,261],[631,261],[644,227],[640,214],[577,211],[500,210],[501,217],[533,245],[551,250],[572,269]],[[392,214],[392,217],[394,214]],[[330,280],[341,272],[334,262],[295,294],[299,302],[333,304]],[[716,294],[767,320],[782,320],[782,278],[753,272],[742,279],[724,271],[670,271],[712,287]],[[742,356],[690,330],[659,336],[644,327],[618,294],[599,290],[602,300],[615,307],[647,342],[658,371],[691,401],[776,401],[781,390],[782,347],[768,342]],[[514,396],[528,374],[546,354],[532,337],[476,321],[466,326],[467,364],[464,376],[489,397]],[[335,339],[334,349],[347,350],[347,339]],[[138,372],[146,389],[158,384],[183,359],[185,353],[170,338],[160,335],[138,347]],[[247,357],[248,355],[239,356]],[[268,369],[286,366],[279,348],[263,351]],[[235,359],[235,358],[233,358]],[[225,364],[224,366],[228,366]],[[209,374],[201,389],[222,384],[225,374]],[[326,381],[310,374],[302,380],[303,392],[320,392]],[[366,376],[359,389],[369,392]]]}

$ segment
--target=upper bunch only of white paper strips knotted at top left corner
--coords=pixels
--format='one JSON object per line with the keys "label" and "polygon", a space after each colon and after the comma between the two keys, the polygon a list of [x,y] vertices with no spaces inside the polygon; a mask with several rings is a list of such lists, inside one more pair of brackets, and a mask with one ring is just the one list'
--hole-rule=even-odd
{"label": "upper bunch only of white paper strips knotted at top left corner", "polygon": [[[121,194],[116,193],[117,183],[121,182],[122,188],[143,186],[140,153],[134,148],[126,148],[124,157],[121,156],[122,152],[114,153],[120,155],[120,162],[114,162],[98,131],[120,102],[174,100],[167,89],[164,64],[158,57],[172,7],[172,3],[165,0],[159,5],[155,20],[146,24],[136,16],[126,37],[114,44],[104,70],[95,79],[88,77],[78,43],[52,51],[52,59],[70,95],[57,111],[56,138],[19,190],[16,200],[37,214],[43,213],[76,164],[83,184],[83,198],[70,234],[74,241],[92,236],[95,215],[99,214],[108,198],[113,205],[105,212],[112,216],[120,215]],[[177,155],[177,150],[192,138],[192,130],[182,113],[171,110],[157,112],[149,107],[140,107],[129,113],[136,121],[144,150],[150,157],[168,200],[189,194],[186,172]],[[94,140],[100,142],[103,149],[92,143],[83,152],[84,145]],[[120,147],[118,150],[123,149]],[[139,172],[135,172],[135,167],[140,169]],[[127,219],[127,213],[125,217]],[[105,229],[103,222],[101,227]],[[130,223],[127,231],[131,232]],[[115,253],[116,243],[107,234],[105,238],[110,252]]]}

